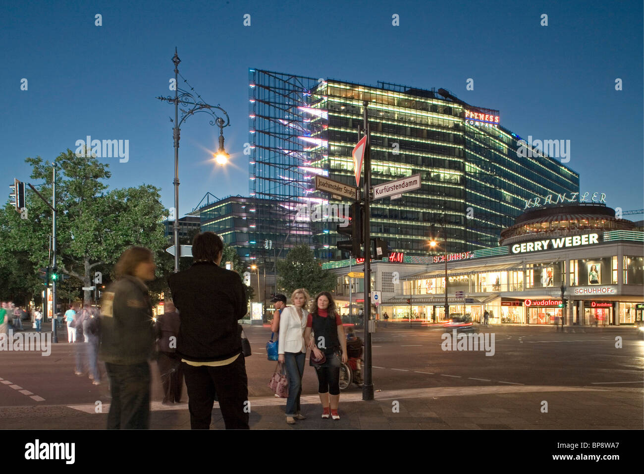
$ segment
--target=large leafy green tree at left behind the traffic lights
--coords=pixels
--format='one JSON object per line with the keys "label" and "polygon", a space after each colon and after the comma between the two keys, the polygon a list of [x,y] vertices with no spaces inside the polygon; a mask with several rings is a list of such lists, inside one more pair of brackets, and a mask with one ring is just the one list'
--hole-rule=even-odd
{"label": "large leafy green tree at left behind the traffic lights", "polygon": [[[25,161],[32,165],[32,179],[44,181],[41,194],[51,196],[52,164],[41,157]],[[73,277],[77,287],[91,286],[95,270],[112,268],[130,246],[164,251],[160,221],[166,210],[159,202],[158,188],[142,184],[108,192],[104,184],[111,177],[108,164],[91,156],[78,157],[69,149],[55,161],[59,273]],[[30,271],[37,275],[37,268],[49,263],[52,211],[35,193],[28,193],[27,208],[26,220],[15,211],[3,214],[0,231],[6,238],[0,243],[0,255],[26,252]],[[85,291],[84,301],[90,302],[90,297],[90,291]]]}

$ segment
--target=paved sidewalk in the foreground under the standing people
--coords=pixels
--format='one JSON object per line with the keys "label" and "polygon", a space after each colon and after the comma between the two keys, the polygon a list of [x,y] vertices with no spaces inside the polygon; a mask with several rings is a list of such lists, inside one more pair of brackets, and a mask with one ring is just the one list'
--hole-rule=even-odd
{"label": "paved sidewalk in the foreground under the standing people", "polygon": [[[642,388],[443,387],[377,392],[369,402],[362,401],[361,392],[352,391],[341,395],[340,420],[321,419],[317,395],[308,395],[301,399],[307,419],[292,426],[285,422],[285,399],[249,401],[253,430],[641,430],[644,417]],[[542,412],[544,401],[547,413]],[[187,402],[175,406],[153,402],[151,410],[154,430],[190,428]],[[108,402],[0,408],[0,429],[103,430],[108,411]],[[215,403],[211,429],[223,428]]]}

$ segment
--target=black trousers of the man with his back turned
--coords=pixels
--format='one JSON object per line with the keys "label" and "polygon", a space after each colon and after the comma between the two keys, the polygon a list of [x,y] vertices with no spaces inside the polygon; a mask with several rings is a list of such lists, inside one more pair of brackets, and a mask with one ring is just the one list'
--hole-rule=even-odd
{"label": "black trousers of the man with his back turned", "polygon": [[248,378],[243,354],[227,366],[194,367],[182,363],[188,389],[190,427],[209,430],[213,417],[215,393],[222,410],[226,430],[248,430]]}

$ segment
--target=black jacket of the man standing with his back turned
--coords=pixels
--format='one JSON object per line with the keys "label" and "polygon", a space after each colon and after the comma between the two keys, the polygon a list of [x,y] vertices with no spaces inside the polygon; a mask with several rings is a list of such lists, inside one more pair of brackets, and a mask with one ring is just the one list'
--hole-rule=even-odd
{"label": "black jacket of the man standing with his back turned", "polygon": [[193,362],[230,359],[242,352],[238,320],[247,313],[240,275],[211,262],[196,262],[170,276],[181,325],[176,353]]}

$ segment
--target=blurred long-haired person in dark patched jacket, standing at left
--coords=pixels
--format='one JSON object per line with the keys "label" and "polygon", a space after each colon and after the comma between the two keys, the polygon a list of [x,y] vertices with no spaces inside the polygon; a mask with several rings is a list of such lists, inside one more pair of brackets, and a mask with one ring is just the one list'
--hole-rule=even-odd
{"label": "blurred long-haired person in dark patched jacket, standing at left", "polygon": [[111,391],[108,430],[146,430],[150,417],[150,367],[156,330],[144,282],[155,279],[147,248],[131,247],[115,266],[117,281],[103,293],[100,314],[100,360]]}

